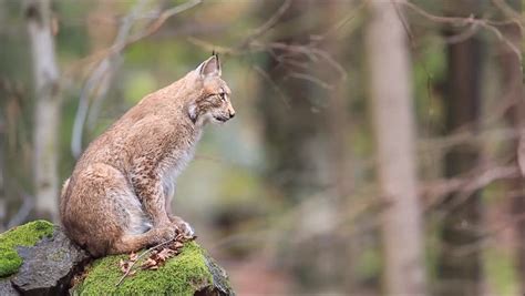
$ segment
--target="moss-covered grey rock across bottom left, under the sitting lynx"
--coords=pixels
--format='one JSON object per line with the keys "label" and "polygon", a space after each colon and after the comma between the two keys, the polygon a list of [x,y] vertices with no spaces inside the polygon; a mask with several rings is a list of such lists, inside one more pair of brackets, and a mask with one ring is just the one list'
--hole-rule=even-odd
{"label": "moss-covered grey rock across bottom left, under the sitting lynx", "polygon": [[[45,232],[29,235],[37,235],[33,241],[38,243],[28,246],[33,241],[28,241],[22,231],[41,229],[42,225],[47,227]],[[6,266],[14,273],[0,277],[1,296],[66,295],[68,292],[73,295],[235,295],[226,272],[195,242],[186,243],[181,254],[166,261],[157,271],[137,268],[135,275],[116,286],[122,277],[119,263],[126,255],[90,262],[87,254],[72,243],[60,227],[51,225],[50,228],[50,225],[42,221],[32,222],[0,234],[0,238],[9,234],[14,241],[23,237],[20,244],[13,243],[13,239],[0,239],[0,259],[8,258]],[[49,237],[50,229],[53,232]],[[13,269],[12,263],[17,263],[19,257],[23,263]],[[83,280],[71,287],[73,276],[84,269],[87,272]]]}

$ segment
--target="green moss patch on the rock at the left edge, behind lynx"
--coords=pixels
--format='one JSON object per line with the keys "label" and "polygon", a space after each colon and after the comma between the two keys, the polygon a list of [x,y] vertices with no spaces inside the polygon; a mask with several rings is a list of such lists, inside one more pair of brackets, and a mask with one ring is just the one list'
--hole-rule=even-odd
{"label": "green moss patch on the rock at the left edge, behind lynx", "polygon": [[17,246],[34,246],[43,236],[51,236],[53,229],[53,224],[40,220],[0,234],[0,277],[14,274],[22,265]]}

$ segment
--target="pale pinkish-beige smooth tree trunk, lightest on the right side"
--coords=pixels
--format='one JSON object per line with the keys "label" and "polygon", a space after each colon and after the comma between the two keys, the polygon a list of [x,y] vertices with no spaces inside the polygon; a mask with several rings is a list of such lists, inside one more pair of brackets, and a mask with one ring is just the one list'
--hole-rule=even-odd
{"label": "pale pinkish-beige smooth tree trunk, lightest on the right side", "polygon": [[382,221],[384,292],[425,294],[415,177],[409,49],[392,2],[371,1],[367,32],[379,177],[388,203]]}

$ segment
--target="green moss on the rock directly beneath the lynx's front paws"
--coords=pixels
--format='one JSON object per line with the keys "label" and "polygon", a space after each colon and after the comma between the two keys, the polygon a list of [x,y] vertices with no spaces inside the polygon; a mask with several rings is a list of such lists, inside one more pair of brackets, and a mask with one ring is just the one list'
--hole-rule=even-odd
{"label": "green moss on the rock directly beneath the lynx's front paws", "polygon": [[[126,255],[107,256],[93,263],[87,277],[75,287],[75,295],[194,295],[196,290],[213,283],[206,266],[206,253],[196,243],[187,243],[182,253],[166,262],[157,271],[142,271],[122,277],[120,259]],[[135,266],[140,265],[137,263]],[[135,267],[134,267],[135,268]]]}

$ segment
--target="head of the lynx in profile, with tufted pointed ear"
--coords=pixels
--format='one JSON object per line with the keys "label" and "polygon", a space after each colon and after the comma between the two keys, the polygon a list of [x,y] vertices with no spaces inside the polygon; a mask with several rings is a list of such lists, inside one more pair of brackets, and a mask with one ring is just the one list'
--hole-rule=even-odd
{"label": "head of the lynx in profile, with tufted pointed ear", "polygon": [[204,61],[194,71],[200,94],[188,105],[189,119],[196,124],[207,122],[224,123],[235,116],[231,106],[229,90],[226,82],[220,79],[220,62],[218,55]]}

